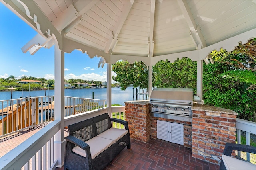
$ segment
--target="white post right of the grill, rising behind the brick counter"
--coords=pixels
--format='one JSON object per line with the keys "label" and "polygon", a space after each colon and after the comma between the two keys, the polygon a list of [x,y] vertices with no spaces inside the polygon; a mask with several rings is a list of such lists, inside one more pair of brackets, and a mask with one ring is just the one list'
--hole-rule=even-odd
{"label": "white post right of the grill, rising behind the brick counter", "polygon": [[196,96],[200,98],[199,104],[204,104],[203,101],[203,60],[197,61],[196,73]]}

